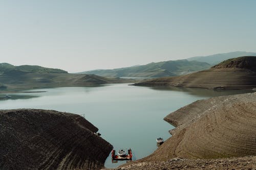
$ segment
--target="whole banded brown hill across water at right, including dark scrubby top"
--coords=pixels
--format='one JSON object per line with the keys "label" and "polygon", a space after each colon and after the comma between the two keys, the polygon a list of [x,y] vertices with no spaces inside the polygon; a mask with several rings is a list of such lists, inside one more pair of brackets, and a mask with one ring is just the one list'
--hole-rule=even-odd
{"label": "whole banded brown hill across water at right, including dark scrubby top", "polygon": [[178,86],[214,89],[256,88],[256,57],[239,57],[226,60],[208,70],[193,74],[153,79],[137,86]]}

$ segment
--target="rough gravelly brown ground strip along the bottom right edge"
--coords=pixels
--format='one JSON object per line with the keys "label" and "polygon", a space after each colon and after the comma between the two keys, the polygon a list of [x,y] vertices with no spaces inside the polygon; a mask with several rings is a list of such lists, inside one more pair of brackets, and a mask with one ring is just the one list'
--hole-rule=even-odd
{"label": "rough gravelly brown ground strip along the bottom right edge", "polygon": [[182,159],[173,158],[167,161],[137,162],[125,164],[119,168],[126,170],[167,170],[167,169],[256,169],[256,156],[226,159]]}

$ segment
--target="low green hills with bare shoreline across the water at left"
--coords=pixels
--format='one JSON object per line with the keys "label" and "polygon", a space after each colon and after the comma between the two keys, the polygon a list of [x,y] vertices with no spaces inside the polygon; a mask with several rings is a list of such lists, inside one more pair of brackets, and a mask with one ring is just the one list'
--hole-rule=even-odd
{"label": "low green hills with bare shoreline across the water at left", "polygon": [[0,64],[0,89],[34,89],[71,86],[97,86],[133,82],[129,79],[104,78],[96,75],[69,74],[65,70],[40,66]]}

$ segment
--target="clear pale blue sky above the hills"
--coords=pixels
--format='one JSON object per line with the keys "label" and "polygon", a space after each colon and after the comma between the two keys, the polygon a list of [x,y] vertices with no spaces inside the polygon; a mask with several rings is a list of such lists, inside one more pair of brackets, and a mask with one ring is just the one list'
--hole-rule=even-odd
{"label": "clear pale blue sky above the hills", "polygon": [[254,0],[0,1],[0,63],[69,72],[256,52]]}

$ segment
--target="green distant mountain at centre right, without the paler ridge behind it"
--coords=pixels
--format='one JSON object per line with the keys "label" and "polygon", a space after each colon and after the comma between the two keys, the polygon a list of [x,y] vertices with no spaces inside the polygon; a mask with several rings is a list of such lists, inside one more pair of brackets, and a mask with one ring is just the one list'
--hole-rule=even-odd
{"label": "green distant mountain at centre right, without the paler ridge behind it", "polygon": [[116,68],[99,69],[79,72],[79,74],[95,74],[103,77],[170,77],[189,74],[198,70],[210,68],[210,64],[199,61],[163,61],[149,63],[146,65]]}

